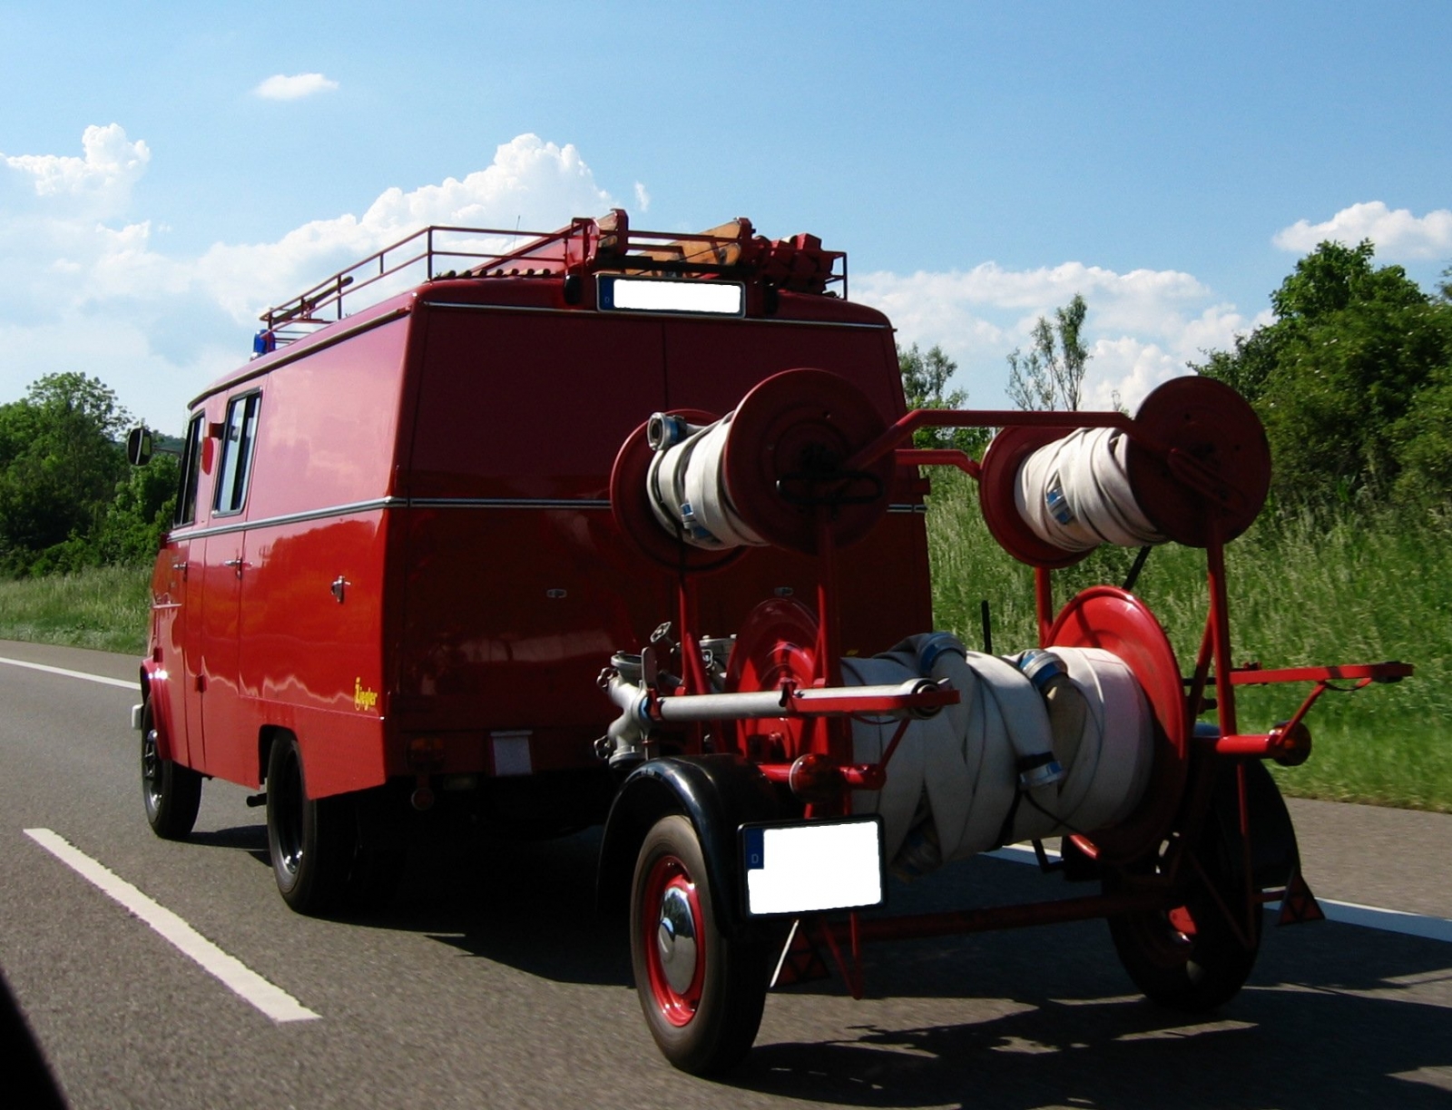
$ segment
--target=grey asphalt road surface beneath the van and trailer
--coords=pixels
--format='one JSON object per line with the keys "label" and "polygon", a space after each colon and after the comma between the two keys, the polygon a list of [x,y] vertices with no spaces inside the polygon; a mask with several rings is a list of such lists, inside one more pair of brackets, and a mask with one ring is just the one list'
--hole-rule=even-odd
{"label": "grey asphalt road surface beneath the van and trailer", "polygon": [[[64,648],[0,657],[136,673]],[[151,834],[132,692],[0,664],[0,968],[76,1107],[1452,1106],[1452,943],[1336,921],[1270,930],[1208,1020],[1133,995],[1101,923],[883,946],[864,1001],[836,981],[772,994],[749,1062],[694,1079],[656,1053],[623,928],[592,912],[590,834],[418,860],[385,915],[302,918],[244,790],[208,783],[189,843]],[[1452,918],[1452,817],[1292,812],[1323,898]],[[317,1018],[267,1017],[25,830],[51,830]],[[1060,889],[979,859],[893,899]]]}

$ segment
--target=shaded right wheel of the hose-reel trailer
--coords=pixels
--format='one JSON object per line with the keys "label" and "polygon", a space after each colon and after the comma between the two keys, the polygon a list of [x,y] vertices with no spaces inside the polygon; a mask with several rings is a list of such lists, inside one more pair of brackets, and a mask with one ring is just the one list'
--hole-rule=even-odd
{"label": "shaded right wheel of the hose-reel trailer", "polygon": [[[1150,1001],[1189,1013],[1234,998],[1260,952],[1262,912],[1257,907],[1247,915],[1244,878],[1218,859],[1217,838],[1208,840],[1214,850],[1202,851],[1199,862],[1214,889],[1199,880],[1183,905],[1109,918],[1109,936],[1134,985]],[[1121,883],[1121,873],[1105,875],[1106,894]]]}

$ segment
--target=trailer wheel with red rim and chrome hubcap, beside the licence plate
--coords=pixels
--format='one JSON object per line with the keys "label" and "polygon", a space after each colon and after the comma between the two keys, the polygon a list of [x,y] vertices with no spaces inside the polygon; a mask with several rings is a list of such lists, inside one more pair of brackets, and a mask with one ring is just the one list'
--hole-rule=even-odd
{"label": "trailer wheel with red rim and chrome hubcap, beside the licence plate", "polygon": [[681,1071],[726,1071],[751,1050],[767,998],[765,949],[716,927],[691,822],[664,817],[636,860],[630,962],[650,1036]]}

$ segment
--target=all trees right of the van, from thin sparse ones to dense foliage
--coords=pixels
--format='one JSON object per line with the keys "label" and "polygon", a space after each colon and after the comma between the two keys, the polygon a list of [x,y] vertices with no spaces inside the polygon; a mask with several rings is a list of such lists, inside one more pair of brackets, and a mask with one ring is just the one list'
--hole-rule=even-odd
{"label": "all trees right of the van, from thin sparse ones to dense foliage", "polygon": [[[1442,513],[1452,507],[1452,269],[1427,293],[1369,241],[1321,243],[1270,295],[1272,323],[1205,352],[1195,373],[1237,389],[1270,445],[1279,511]],[[1028,353],[1008,356],[1018,408],[1080,407],[1089,352],[1082,296],[1040,317]],[[897,352],[908,405],[961,408],[941,347]],[[982,453],[971,430],[928,429],[918,446]]]}

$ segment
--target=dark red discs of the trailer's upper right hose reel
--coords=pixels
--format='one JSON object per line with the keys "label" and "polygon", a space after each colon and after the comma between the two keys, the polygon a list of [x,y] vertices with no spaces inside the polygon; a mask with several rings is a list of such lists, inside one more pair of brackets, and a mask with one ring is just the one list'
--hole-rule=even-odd
{"label": "dark red discs of the trailer's upper right hose reel", "polygon": [[[1006,427],[983,458],[979,497],[993,538],[1019,562],[1070,567],[1088,552],[1066,551],[1035,533],[1015,501],[1028,458],[1076,429]],[[1256,519],[1270,488],[1270,449],[1255,410],[1212,378],[1173,378],[1134,418],[1127,472],[1134,503],[1165,538],[1208,548],[1234,539]],[[1208,487],[1196,488],[1196,482]]]}

